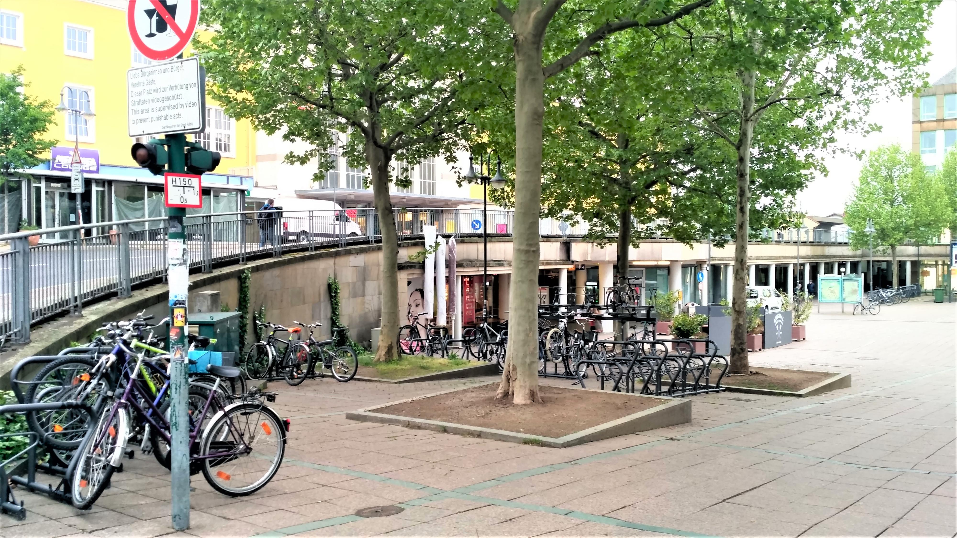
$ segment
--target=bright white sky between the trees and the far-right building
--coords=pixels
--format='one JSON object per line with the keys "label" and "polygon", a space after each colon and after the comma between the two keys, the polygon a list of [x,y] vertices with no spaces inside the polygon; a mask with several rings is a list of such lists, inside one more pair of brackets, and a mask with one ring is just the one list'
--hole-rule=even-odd
{"label": "bright white sky between the trees and the far-right building", "polygon": [[[927,32],[929,50],[933,53],[927,64],[928,82],[943,77],[957,66],[957,0],[944,0],[933,14],[933,26]],[[879,132],[862,136],[857,133],[838,133],[837,144],[859,151],[879,146],[899,144],[911,148],[912,98],[890,99],[871,107],[868,122],[878,123]],[[825,163],[827,177],[818,177],[798,193],[801,211],[812,215],[842,213],[844,203],[851,197],[860,172],[861,163],[849,155],[829,156]]]}

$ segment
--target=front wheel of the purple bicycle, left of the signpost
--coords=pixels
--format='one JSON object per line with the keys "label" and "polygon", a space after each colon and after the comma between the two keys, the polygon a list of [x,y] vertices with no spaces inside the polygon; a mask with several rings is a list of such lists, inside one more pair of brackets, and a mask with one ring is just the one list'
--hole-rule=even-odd
{"label": "front wheel of the purple bicycle, left of the signpost", "polygon": [[78,451],[77,468],[71,481],[71,502],[85,510],[97,502],[116,470],[110,457],[117,445],[125,443],[124,412],[119,408],[107,408],[100,414],[97,426],[86,437]]}

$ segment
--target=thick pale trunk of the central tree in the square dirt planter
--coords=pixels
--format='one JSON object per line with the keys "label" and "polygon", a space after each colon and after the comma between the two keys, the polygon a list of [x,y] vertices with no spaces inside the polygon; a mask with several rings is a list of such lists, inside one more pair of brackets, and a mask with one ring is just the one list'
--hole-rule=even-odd
{"label": "thick pale trunk of the central tree in the square dirt planter", "polygon": [[[526,3],[523,3],[526,4]],[[545,74],[542,37],[531,39],[535,11],[520,6],[515,29],[515,230],[509,290],[508,351],[497,398],[540,403],[538,379],[539,212]],[[522,20],[523,19],[523,20]]]}

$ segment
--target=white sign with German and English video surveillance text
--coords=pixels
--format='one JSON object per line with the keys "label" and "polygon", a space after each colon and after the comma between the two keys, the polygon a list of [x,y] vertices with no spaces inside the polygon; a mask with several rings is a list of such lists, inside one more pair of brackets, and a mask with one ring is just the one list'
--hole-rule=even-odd
{"label": "white sign with German and English video surveillance text", "polygon": [[206,128],[206,77],[188,57],[126,71],[129,136],[201,132]]}

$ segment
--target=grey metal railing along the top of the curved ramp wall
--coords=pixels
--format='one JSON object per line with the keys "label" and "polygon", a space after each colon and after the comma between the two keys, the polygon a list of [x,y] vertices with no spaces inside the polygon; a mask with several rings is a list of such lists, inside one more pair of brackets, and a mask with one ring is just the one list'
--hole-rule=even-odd
{"label": "grey metal railing along the top of the curved ramp wall", "polygon": [[[480,209],[393,211],[400,240],[421,237],[426,225],[443,235],[482,232]],[[487,218],[489,235],[512,235],[514,212],[489,211]],[[192,214],[184,224],[189,267],[203,272],[250,258],[381,239],[372,209]],[[570,217],[539,223],[544,236],[581,236],[588,229]],[[811,234],[802,240],[834,242],[839,237]],[[10,245],[0,251],[0,341],[29,342],[31,324],[79,314],[83,303],[103,297],[126,297],[133,287],[167,274],[166,216],[19,232],[0,235],[0,241]]]}

